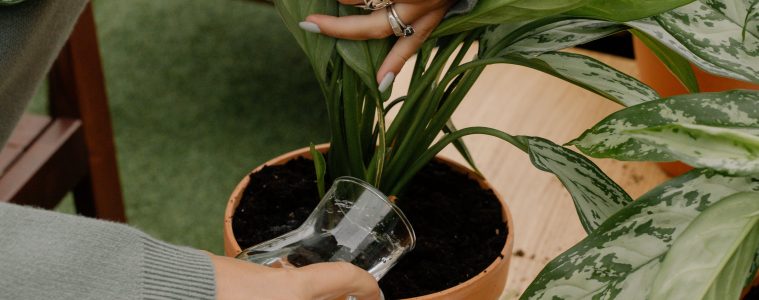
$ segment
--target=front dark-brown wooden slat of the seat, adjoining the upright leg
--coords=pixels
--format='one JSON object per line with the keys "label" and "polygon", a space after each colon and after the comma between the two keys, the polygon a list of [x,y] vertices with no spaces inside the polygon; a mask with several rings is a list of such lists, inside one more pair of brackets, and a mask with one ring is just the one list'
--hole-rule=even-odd
{"label": "front dark-brown wooden slat of the seat, adjoining the upright leg", "polygon": [[87,172],[81,126],[55,119],[0,177],[0,202],[55,207]]}

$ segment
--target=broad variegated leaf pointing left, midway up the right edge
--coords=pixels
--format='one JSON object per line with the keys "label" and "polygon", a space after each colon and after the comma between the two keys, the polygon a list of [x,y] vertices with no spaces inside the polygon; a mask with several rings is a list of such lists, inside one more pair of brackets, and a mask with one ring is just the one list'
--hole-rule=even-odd
{"label": "broad variegated leaf pointing left, midway up the right edge", "polygon": [[[753,174],[759,148],[759,91],[676,96],[611,114],[570,142],[585,154],[620,160],[687,160]],[[745,165],[744,165],[745,164]]]}

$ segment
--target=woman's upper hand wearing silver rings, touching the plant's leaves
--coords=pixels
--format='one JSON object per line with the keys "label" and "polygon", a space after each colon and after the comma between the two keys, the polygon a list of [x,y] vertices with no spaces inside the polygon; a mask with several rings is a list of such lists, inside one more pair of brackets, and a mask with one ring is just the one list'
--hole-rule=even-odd
{"label": "woman's upper hand wearing silver rings, touching the plant's leaves", "polygon": [[[323,0],[334,1],[334,0]],[[363,5],[364,0],[338,0],[345,5]],[[448,9],[456,0],[396,0],[395,11],[401,21],[414,28],[415,33],[401,37],[390,50],[377,72],[380,91],[384,91],[401,71],[406,61],[413,56],[443,20]],[[378,9],[368,15],[334,17],[310,15],[300,27],[340,39],[368,40],[381,39],[394,34],[388,20],[388,10]]]}

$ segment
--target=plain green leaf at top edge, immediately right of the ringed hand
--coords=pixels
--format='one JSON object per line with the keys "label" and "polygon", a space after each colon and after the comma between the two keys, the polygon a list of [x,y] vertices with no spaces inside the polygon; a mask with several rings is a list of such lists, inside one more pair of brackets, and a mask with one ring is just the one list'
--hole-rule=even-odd
{"label": "plain green leaf at top edge, immediately right of the ringed hand", "polygon": [[444,20],[432,36],[443,36],[492,24],[539,19],[578,8],[589,0],[479,0],[466,14]]}

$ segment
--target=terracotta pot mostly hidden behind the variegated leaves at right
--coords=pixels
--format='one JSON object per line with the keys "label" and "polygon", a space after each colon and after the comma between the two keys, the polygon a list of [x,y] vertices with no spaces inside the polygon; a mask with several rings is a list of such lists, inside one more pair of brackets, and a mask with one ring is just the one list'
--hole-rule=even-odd
{"label": "terracotta pot mostly hidden behind the variegated leaves at right", "polygon": [[[633,40],[635,48],[635,60],[638,63],[638,79],[656,90],[662,97],[687,94],[688,90],[677,80],[675,75],[667,69],[664,63],[648,49],[639,39]],[[734,89],[759,90],[759,85],[712,75],[701,69],[691,66],[696,74],[698,86],[701,92],[721,92]],[[693,167],[681,162],[659,163],[659,167],[669,176],[680,176],[693,169]]]}

